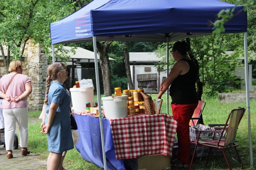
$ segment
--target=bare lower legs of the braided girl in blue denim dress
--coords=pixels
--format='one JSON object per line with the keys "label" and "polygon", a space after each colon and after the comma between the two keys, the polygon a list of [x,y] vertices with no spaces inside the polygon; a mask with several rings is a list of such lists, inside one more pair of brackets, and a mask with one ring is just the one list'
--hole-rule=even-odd
{"label": "bare lower legs of the braided girl in blue denim dress", "polygon": [[62,152],[54,153],[50,152],[47,159],[47,170],[58,170],[61,162]]}

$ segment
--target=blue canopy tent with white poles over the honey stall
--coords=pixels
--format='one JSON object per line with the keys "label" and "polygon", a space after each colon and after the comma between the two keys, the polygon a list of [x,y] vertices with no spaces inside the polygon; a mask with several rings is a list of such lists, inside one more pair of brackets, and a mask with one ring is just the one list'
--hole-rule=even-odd
{"label": "blue canopy tent with white poles over the honey stall", "polygon": [[[214,22],[217,13],[222,9],[232,9],[234,6],[219,0],[93,0],[75,13],[50,24],[52,49],[54,51],[53,44],[93,42],[95,68],[98,68],[96,40],[168,43],[189,37],[210,35],[212,29],[209,27],[209,21]],[[236,14],[234,18],[228,21],[224,27],[225,33],[244,33],[250,163],[253,167],[247,58],[247,13],[243,11],[243,6],[237,6],[234,13]],[[168,51],[167,58],[169,58]],[[100,101],[97,69],[96,83],[98,101]],[[100,124],[102,124],[101,113],[99,114]],[[104,151],[103,133],[102,150]],[[106,159],[104,168],[107,168]]]}

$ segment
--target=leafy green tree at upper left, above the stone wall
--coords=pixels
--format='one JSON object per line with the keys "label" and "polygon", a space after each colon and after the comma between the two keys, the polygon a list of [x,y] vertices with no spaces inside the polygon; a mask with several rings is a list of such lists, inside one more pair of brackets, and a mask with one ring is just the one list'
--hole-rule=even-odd
{"label": "leafy green tree at upper left, above the stone wall", "polygon": [[[50,23],[70,15],[88,0],[4,0],[0,2],[0,50],[7,72],[10,60],[22,60],[28,40],[39,43],[46,53],[51,48]],[[56,46],[57,50],[63,45]],[[4,53],[4,48],[7,53]],[[62,53],[62,54],[63,54]],[[12,58],[11,58],[12,56]],[[66,61],[67,56],[61,60]],[[51,60],[51,57],[48,58]]]}

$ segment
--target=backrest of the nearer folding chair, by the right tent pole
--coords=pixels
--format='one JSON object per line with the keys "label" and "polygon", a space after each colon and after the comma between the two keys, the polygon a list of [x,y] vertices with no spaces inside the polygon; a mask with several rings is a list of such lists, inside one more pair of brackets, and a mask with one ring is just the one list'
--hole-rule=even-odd
{"label": "backrest of the nearer folding chair, by the right tent pole", "polygon": [[[238,125],[245,113],[245,108],[237,108],[231,110],[228,115],[228,119],[224,127],[228,126],[228,131],[226,132],[226,139],[224,146],[234,143]],[[228,124],[228,125],[227,125]]]}

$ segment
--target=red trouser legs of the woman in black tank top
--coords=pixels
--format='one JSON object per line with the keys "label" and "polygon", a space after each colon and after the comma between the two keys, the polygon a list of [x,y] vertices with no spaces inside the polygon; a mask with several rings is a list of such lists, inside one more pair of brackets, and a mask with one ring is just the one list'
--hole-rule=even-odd
{"label": "red trouser legs of the woman in black tank top", "polygon": [[197,104],[171,104],[173,119],[178,122],[176,129],[178,137],[178,159],[184,164],[190,164],[189,121]]}

